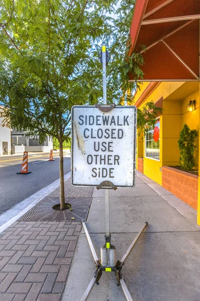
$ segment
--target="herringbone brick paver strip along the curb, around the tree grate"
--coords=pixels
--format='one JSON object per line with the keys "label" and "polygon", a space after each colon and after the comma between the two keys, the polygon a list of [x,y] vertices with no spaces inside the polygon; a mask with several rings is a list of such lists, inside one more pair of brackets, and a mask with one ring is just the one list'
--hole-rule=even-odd
{"label": "herringbone brick paver strip along the curb, around the tree grate", "polygon": [[[65,182],[66,197],[92,191]],[[1,232],[0,301],[60,301],[80,230],[80,222],[17,221]]]}

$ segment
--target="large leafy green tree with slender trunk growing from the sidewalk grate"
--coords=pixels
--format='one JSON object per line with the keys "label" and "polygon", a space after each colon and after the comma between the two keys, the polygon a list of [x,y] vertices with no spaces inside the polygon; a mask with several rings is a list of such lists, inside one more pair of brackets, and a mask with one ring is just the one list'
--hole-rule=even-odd
{"label": "large leafy green tree with slender trunk growing from the sidewalk grate", "polygon": [[[72,105],[102,100],[98,60],[105,41],[107,101],[128,101],[142,76],[142,56],[128,55],[134,1],[0,0],[0,101],[4,124],[28,135],[59,141],[60,210],[64,209],[63,142],[70,135]],[[110,14],[118,16],[115,19]],[[129,93],[126,93],[129,91]]]}

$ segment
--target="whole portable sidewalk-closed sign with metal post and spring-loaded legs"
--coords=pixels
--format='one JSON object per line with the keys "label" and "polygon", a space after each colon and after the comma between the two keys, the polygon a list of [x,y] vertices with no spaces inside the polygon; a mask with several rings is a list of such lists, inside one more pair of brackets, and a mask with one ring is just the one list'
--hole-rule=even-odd
{"label": "whole portable sidewalk-closed sign with metal post and spring-loaded legs", "polygon": [[121,260],[116,261],[116,250],[111,244],[109,223],[109,189],[134,187],[136,160],[136,107],[107,105],[106,63],[109,54],[102,45],[100,61],[103,71],[103,105],[73,106],[71,183],[73,186],[94,186],[105,189],[105,244],[98,259],[86,225],[86,238],[96,264],[96,271],[80,301],[86,301],[102,271],[115,272],[127,301],[132,301],[123,280],[121,269],[147,223],[130,244]]}

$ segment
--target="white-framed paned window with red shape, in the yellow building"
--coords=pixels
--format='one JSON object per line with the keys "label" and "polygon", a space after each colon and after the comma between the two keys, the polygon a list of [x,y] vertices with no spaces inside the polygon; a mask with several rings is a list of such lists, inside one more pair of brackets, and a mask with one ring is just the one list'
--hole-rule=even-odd
{"label": "white-framed paned window with red shape, in the yellow building", "polygon": [[160,120],[156,120],[154,127],[146,128],[145,134],[145,157],[159,160],[159,127]]}

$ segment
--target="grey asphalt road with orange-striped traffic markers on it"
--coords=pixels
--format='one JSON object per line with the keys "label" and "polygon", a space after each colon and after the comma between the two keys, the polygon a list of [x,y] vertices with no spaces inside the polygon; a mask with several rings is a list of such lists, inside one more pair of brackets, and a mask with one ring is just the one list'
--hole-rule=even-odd
{"label": "grey asphalt road with orange-striped traffic markers on it", "polygon": [[[64,174],[71,169],[69,155],[64,155]],[[20,172],[22,156],[0,157],[0,214],[59,178],[59,154],[47,161],[49,154],[28,155],[28,175]]]}

